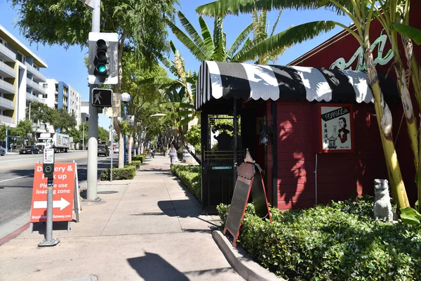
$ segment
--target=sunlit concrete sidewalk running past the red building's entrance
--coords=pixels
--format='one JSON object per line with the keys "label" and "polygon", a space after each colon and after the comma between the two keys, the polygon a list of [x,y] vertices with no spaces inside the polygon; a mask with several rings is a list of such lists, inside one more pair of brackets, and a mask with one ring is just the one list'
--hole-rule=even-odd
{"label": "sunlit concrete sidewalk running past the red building's entrance", "polygon": [[82,202],[72,230],[55,224],[55,247],[37,247],[42,223],[1,245],[0,280],[243,280],[210,234],[219,217],[201,215],[169,164],[156,155],[131,181],[98,183],[102,200]]}

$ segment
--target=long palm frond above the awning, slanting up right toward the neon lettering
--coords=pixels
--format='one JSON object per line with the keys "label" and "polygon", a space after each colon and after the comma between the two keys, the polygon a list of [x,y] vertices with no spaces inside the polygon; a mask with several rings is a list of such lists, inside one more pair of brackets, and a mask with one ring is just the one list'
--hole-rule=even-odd
{"label": "long palm frond above the awning, slanting up right toward the neon lettering", "polygon": [[276,49],[293,46],[293,44],[301,43],[302,41],[312,39],[321,32],[328,32],[335,27],[335,22],[330,20],[322,20],[316,22],[307,22],[302,25],[291,27],[288,30],[279,32],[272,37],[251,47],[249,50],[242,50],[236,53],[232,58],[235,62],[246,62],[248,60],[255,60],[260,55],[265,55]]}

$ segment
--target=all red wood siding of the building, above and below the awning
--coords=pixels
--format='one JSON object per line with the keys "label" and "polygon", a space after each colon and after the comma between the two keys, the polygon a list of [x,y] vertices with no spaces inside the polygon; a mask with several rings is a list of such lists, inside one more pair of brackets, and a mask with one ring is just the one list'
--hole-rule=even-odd
{"label": "all red wood siding of the building, above and below the awning", "polygon": [[[421,20],[417,13],[420,9],[421,1],[411,2],[410,25],[419,29]],[[382,26],[374,20],[370,25],[371,41],[377,39],[381,32]],[[401,43],[400,39],[399,43]],[[390,48],[389,41],[386,44],[383,55]],[[413,47],[415,56],[420,61],[421,46],[414,44]],[[359,48],[359,44],[352,35],[340,32],[289,65],[329,68],[338,58],[342,57],[348,61],[357,48]],[[403,48],[400,49],[401,54],[404,54]],[[373,56],[377,57],[377,48],[373,51]],[[377,65],[377,69],[387,73],[392,62],[393,60],[387,65]],[[352,65],[352,69],[355,69],[355,65],[356,62]],[[390,71],[389,75],[394,77],[394,71]],[[373,180],[388,178],[373,104],[355,103],[353,106],[355,151],[318,155],[318,203],[345,200],[351,195],[356,195],[357,192],[373,195]],[[415,117],[420,122],[415,99],[413,99],[413,106]],[[406,122],[404,119],[401,122],[403,109],[400,103],[389,104],[389,107],[393,115],[393,137],[403,181],[410,204],[413,204],[417,197],[414,183],[415,168]],[[316,201],[314,178],[316,150],[312,145],[318,140],[316,140],[316,133],[312,128],[317,124],[316,115],[312,115],[314,110],[316,107],[312,107],[312,103],[309,102],[278,101],[277,205],[279,209],[312,207]]]}

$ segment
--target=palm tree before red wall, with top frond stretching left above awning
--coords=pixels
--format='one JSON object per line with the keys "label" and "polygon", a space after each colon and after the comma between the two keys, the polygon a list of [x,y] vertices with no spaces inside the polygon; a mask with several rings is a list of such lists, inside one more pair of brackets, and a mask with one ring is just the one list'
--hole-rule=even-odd
{"label": "palm tree before red wall, with top frond stretching left above awning", "polygon": [[335,22],[335,24],[345,28],[345,30],[352,34],[363,48],[368,72],[368,81],[375,99],[377,124],[380,130],[383,150],[385,152],[389,182],[392,186],[394,199],[398,203],[399,207],[403,208],[409,207],[409,203],[401,175],[401,169],[396,156],[396,149],[393,143],[392,112],[390,112],[389,106],[383,98],[377,71],[375,70],[375,65],[373,63],[373,53],[370,49],[370,39],[368,37],[370,22],[373,19],[376,3],[377,2],[374,0],[218,0],[210,4],[199,6],[196,8],[196,11],[202,15],[223,16],[229,13],[252,13],[255,9],[271,11],[272,9],[281,8],[314,9],[324,6],[327,8],[333,8],[338,13],[348,15],[354,22],[356,30],[352,30],[339,22]]}

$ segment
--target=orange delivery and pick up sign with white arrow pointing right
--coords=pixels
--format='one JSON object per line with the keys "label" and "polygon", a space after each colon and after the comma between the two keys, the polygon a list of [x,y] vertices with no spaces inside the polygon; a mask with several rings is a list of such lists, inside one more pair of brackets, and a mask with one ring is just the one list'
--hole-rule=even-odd
{"label": "orange delivery and pick up sign with white arrow pointing right", "polygon": [[[75,163],[55,163],[53,177],[53,221],[72,221]],[[42,164],[35,164],[34,186],[32,188],[31,223],[46,221],[47,178]]]}

